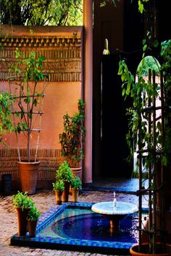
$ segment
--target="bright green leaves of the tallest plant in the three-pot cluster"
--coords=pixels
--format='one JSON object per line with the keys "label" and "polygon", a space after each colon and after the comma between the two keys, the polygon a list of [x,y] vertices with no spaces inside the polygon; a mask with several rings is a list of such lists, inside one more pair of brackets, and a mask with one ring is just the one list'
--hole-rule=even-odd
{"label": "bright green leaves of the tallest plant in the three-pot cluster", "polygon": [[72,181],[72,170],[67,161],[62,162],[59,165],[58,170],[56,171],[56,179],[57,181]]}

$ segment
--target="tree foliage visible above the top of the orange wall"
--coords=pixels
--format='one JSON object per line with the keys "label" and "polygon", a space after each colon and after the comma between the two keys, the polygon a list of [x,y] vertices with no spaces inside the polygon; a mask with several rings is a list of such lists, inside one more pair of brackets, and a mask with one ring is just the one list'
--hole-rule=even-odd
{"label": "tree foliage visible above the top of the orange wall", "polygon": [[9,25],[82,25],[82,0],[0,0],[0,22]]}

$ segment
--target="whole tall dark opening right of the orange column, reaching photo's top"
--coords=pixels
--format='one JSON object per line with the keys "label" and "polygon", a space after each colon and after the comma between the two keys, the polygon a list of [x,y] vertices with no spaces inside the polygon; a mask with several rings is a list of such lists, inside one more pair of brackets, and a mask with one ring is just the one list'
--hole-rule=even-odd
{"label": "whole tall dark opening right of the orange column, reaching photo's top", "polygon": [[[152,30],[154,18],[157,17],[155,32],[159,41],[170,38],[167,4],[159,0],[151,4],[152,8],[146,4],[149,9],[144,17],[138,12],[137,0],[117,1],[117,7],[109,1],[104,8],[99,7],[100,0],[94,1],[93,181],[99,176],[130,177],[133,170],[133,164],[126,162],[129,149],[125,139],[128,131],[125,112],[130,102],[122,99],[122,82],[117,71],[121,56],[127,59],[129,70],[135,75],[142,57],[142,40],[146,28]],[[109,41],[107,56],[102,55],[105,38]]]}

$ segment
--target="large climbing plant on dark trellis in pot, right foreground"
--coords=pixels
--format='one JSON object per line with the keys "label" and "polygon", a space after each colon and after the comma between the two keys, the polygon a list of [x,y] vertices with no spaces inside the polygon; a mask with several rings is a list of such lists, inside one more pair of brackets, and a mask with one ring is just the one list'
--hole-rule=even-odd
{"label": "large climbing plant on dark trellis in pot, right foreground", "polygon": [[[147,39],[151,36],[148,33]],[[157,47],[154,41],[154,47]],[[143,40],[143,51],[146,53],[148,45]],[[142,59],[141,67],[138,68],[138,80],[128,70],[125,60],[120,61],[118,74],[122,78],[122,95],[133,100],[133,107],[129,110],[130,122],[128,133],[129,145],[134,145],[133,152],[138,153],[139,170],[139,241],[130,248],[131,255],[171,255],[167,221],[170,213],[171,199],[168,197],[170,188],[168,186],[168,173],[170,171],[170,56],[171,40],[161,44],[160,66],[158,67],[160,81],[157,82],[154,67],[146,59]],[[144,56],[143,54],[143,56]],[[144,70],[149,73],[146,76]],[[152,70],[152,71],[151,71]],[[144,77],[145,75],[145,77]],[[132,143],[133,140],[133,143]],[[143,186],[143,168],[148,173],[149,186]],[[142,197],[149,197],[149,217],[146,223],[142,220]],[[167,218],[166,218],[167,216]]]}

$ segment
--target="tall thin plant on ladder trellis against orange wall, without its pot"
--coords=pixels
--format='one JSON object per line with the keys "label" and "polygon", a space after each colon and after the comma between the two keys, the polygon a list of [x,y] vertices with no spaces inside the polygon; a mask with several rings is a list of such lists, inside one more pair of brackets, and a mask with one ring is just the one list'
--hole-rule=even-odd
{"label": "tall thin plant on ladder trellis against orange wall, without its pot", "polygon": [[[30,139],[32,133],[37,133],[36,155],[38,152],[39,134],[41,131],[41,115],[43,114],[43,92],[37,91],[38,82],[44,79],[42,73],[44,57],[36,58],[36,53],[30,51],[28,57],[16,49],[15,58],[17,64],[12,65],[11,72],[14,77],[9,78],[9,89],[14,100],[12,112],[14,115],[14,130],[17,134],[21,132],[27,140],[28,162],[30,162]],[[36,120],[39,117],[39,122]],[[38,125],[38,127],[35,127]],[[17,136],[18,140],[18,136]],[[18,151],[20,160],[20,151]]]}

